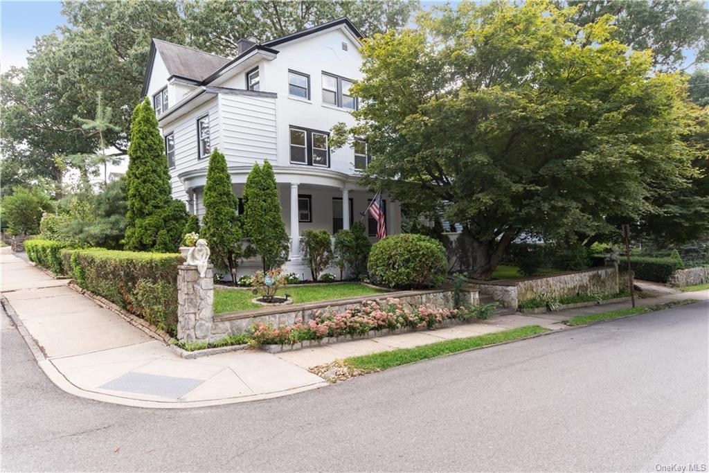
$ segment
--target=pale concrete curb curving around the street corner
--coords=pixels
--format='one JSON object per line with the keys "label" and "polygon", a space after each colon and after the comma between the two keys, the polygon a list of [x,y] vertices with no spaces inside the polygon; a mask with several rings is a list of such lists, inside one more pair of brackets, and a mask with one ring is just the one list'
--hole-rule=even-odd
{"label": "pale concrete curb curving around the street corner", "polygon": [[55,384],[59,389],[65,391],[67,394],[72,394],[72,396],[77,396],[84,399],[91,399],[91,401],[105,402],[108,404],[118,404],[121,406],[135,407],[135,408],[156,408],[156,409],[187,409],[187,408],[198,408],[198,407],[212,407],[212,406],[225,406],[228,404],[240,404],[243,402],[250,401],[262,401],[264,399],[273,399],[281,396],[289,396],[291,394],[298,394],[303,391],[309,391],[311,389],[320,389],[323,386],[328,386],[328,383],[323,380],[323,382],[317,382],[313,384],[306,384],[305,386],[299,386],[293,389],[286,389],[284,391],[274,391],[267,394],[255,394],[251,396],[234,396],[223,399],[214,399],[210,401],[147,401],[145,399],[134,399],[130,397],[118,396],[114,394],[106,394],[98,391],[91,391],[89,389],[82,389],[76,384],[72,383],[65,377],[65,375],[60,372],[57,367],[52,363],[52,360],[45,357],[40,345],[36,340],[30,335],[25,325],[20,320],[15,309],[10,304],[10,301],[5,296],[1,296],[0,304],[2,304],[4,310],[10,317],[11,321],[15,325],[20,333],[21,337],[27,344],[32,352],[32,355],[37,361],[37,365],[42,369],[46,377],[50,379],[52,383]]}

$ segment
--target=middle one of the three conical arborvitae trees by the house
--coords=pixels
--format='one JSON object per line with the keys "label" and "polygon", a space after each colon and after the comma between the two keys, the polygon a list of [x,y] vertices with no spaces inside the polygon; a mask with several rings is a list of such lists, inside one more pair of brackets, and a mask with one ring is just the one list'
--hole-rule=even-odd
{"label": "middle one of the three conical arborvitae trees by the house", "polygon": [[238,202],[231,187],[231,176],[224,155],[215,149],[209,157],[207,182],[204,185],[205,213],[199,236],[207,240],[213,265],[228,271],[234,282],[242,254]]}

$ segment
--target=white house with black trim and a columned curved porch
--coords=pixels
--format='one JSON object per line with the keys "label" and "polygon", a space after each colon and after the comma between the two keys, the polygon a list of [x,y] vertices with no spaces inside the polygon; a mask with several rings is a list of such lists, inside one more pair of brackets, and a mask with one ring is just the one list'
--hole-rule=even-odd
{"label": "white house with black trim and a columned curved porch", "polygon": [[[342,18],[264,43],[240,40],[234,58],[153,40],[143,94],[164,136],[174,198],[203,216],[208,158],[218,148],[238,197],[255,162],[274,167],[289,271],[308,277],[299,244],[305,229],[334,234],[361,220],[375,240],[376,222],[364,215],[372,193],[357,185],[367,143],[328,144],[335,123],[354,125],[359,104],[350,86],[362,77],[361,38]],[[399,233],[398,204],[385,196],[384,210],[387,234]],[[239,272],[254,269],[244,262]]]}

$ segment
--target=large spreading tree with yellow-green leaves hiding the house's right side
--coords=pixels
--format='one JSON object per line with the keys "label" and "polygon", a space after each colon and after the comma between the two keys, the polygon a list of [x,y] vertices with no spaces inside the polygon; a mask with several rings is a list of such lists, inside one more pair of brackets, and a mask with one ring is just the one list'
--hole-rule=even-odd
{"label": "large spreading tree with yellow-green leaves hiding the house's right side", "polygon": [[[691,113],[676,74],[546,1],[435,9],[364,47],[352,130],[364,182],[463,227],[475,277],[520,235],[587,239],[686,184]],[[337,139],[333,143],[337,143]]]}

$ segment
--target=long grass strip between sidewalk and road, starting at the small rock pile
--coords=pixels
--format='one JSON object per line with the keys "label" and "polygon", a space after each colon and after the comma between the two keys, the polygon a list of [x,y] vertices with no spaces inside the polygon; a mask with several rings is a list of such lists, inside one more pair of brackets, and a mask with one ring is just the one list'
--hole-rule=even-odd
{"label": "long grass strip between sidewalk and road, starting at the small rock pile", "polygon": [[527,338],[548,331],[548,328],[543,328],[539,325],[525,325],[524,327],[512,328],[496,333],[487,333],[486,335],[477,335],[476,337],[456,338],[454,340],[445,340],[443,342],[431,343],[430,345],[422,345],[420,347],[400,348],[389,352],[350,357],[345,360],[345,363],[354,369],[361,369],[362,371],[380,371],[381,369],[408,365],[409,363],[449,355],[450,353],[519,340],[520,338]]}

